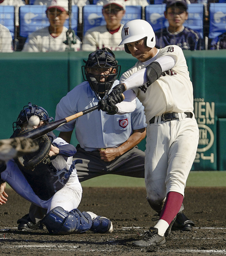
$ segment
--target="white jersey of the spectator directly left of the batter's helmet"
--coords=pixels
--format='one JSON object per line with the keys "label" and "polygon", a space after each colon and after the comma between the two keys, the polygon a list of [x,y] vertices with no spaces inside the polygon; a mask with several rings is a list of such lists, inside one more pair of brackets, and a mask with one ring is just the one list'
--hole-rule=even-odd
{"label": "white jersey of the spectator directly left of the batter's helmet", "polygon": [[122,27],[119,28],[118,32],[111,34],[108,30],[106,25],[97,26],[90,28],[86,31],[84,36],[82,50],[83,51],[96,51],[107,47],[112,51],[123,51],[124,45],[120,45],[122,41],[121,32]]}

